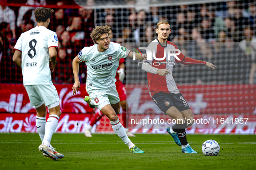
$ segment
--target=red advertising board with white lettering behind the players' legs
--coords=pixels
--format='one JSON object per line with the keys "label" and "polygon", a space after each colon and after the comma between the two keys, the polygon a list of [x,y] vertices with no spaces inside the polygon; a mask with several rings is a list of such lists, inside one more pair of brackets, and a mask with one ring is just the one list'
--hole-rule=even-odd
{"label": "red advertising board with white lettering behind the players' legs", "polygon": [[[88,95],[84,85],[72,95],[72,85],[55,85],[62,116],[57,132],[81,133],[93,116],[93,109],[83,101]],[[188,133],[256,134],[256,85],[182,85],[180,92],[188,102],[194,123]],[[23,85],[0,84],[0,132],[36,132],[36,110],[30,107],[29,98]],[[126,86],[129,105],[129,125],[134,133],[165,133],[173,123],[165,116],[149,96],[147,85]],[[122,123],[122,116],[119,118]],[[136,120],[157,120],[161,123]],[[208,120],[207,123],[204,120]],[[97,122],[93,132],[113,132],[107,116]]]}

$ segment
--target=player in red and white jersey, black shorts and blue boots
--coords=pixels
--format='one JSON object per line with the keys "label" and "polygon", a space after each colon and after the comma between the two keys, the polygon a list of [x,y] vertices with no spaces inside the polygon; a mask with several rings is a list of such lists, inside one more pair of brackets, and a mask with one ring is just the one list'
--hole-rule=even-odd
{"label": "player in red and white jersey, black shorts and blue boots", "polygon": [[[156,33],[158,34],[158,38],[153,40],[148,48],[150,50],[156,49],[154,51],[155,54],[152,54],[152,56],[154,55],[155,58],[159,60],[156,60],[154,57],[148,60],[145,55],[145,60],[143,60],[142,65],[142,69],[147,72],[148,76],[149,94],[165,115],[176,120],[176,124],[172,127],[168,127],[166,130],[172,135],[175,143],[181,146],[181,151],[183,153],[197,153],[188,144],[185,130],[185,128],[192,125],[192,123],[188,124],[185,120],[194,119],[193,113],[175,84],[172,77],[172,69],[175,63],[205,65],[212,70],[217,67],[212,63],[185,57],[182,53],[176,54],[178,53],[178,47],[174,43],[167,41],[171,33],[169,22],[164,20],[159,21],[156,25]],[[170,56],[169,60],[167,54],[166,57],[164,57],[168,49],[177,49],[170,51],[172,54],[176,55]]]}

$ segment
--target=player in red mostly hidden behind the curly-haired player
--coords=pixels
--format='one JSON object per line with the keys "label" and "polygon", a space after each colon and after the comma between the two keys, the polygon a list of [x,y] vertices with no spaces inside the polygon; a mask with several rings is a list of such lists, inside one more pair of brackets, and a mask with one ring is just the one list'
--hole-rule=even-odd
{"label": "player in red mostly hidden behind the curly-haired player", "polygon": [[[113,38],[113,32],[112,30],[110,29],[109,31],[109,38],[110,38],[110,41],[111,41],[111,38]],[[127,107],[127,104],[126,104],[126,89],[125,87],[123,86],[123,79],[124,79],[124,68],[125,68],[125,65],[124,65],[124,59],[120,59],[119,60],[119,67],[117,68],[117,74],[116,74],[116,88],[117,88],[117,92],[118,92],[118,95],[119,95],[119,98],[120,98],[120,105],[123,109],[123,113],[122,113],[122,118],[123,118],[123,127],[126,131],[126,134],[127,136],[129,137],[135,137],[135,135],[133,133],[131,133],[129,131],[129,129],[127,128],[127,124],[128,124],[128,120],[129,120],[129,115],[126,114],[126,107]],[[95,123],[97,123],[97,121],[99,121],[101,119],[102,116],[104,116],[103,113],[101,113],[101,111],[99,109],[96,109],[95,110],[95,115],[94,117],[91,119],[91,123],[89,126],[87,126],[87,128],[84,130],[84,135],[86,137],[92,137],[91,135],[91,128],[92,126],[94,126]]]}

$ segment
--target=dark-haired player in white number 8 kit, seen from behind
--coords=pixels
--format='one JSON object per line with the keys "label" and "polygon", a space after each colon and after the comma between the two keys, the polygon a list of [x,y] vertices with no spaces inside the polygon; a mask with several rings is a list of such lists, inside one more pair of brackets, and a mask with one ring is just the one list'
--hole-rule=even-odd
{"label": "dark-haired player in white number 8 kit, seen from behind", "polygon": [[[50,144],[61,111],[59,97],[52,84],[51,70],[56,65],[58,38],[55,32],[47,29],[53,9],[37,8],[35,17],[37,26],[20,35],[14,50],[13,61],[22,69],[23,85],[29,95],[29,101],[36,107],[36,127],[42,144],[39,151],[43,155],[58,161],[64,155],[55,151]],[[21,58],[20,58],[21,57]],[[46,107],[49,118],[45,122]]]}

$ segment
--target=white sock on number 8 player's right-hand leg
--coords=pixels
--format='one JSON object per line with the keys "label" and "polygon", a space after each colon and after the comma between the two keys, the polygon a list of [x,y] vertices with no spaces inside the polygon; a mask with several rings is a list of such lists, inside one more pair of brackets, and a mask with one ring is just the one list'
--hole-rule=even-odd
{"label": "white sock on number 8 player's right-hand leg", "polygon": [[58,126],[59,117],[55,114],[51,114],[45,124],[45,137],[43,140],[44,145],[49,146],[52,140],[52,135]]}

